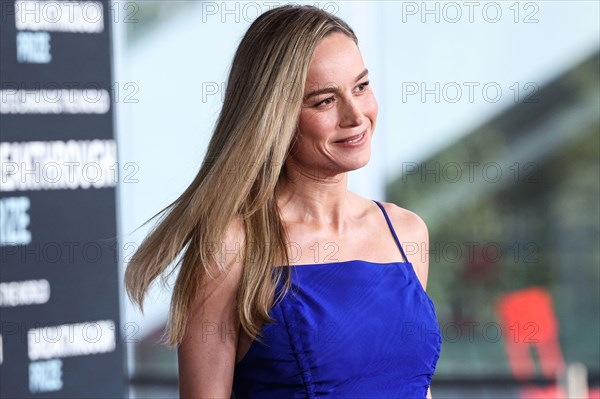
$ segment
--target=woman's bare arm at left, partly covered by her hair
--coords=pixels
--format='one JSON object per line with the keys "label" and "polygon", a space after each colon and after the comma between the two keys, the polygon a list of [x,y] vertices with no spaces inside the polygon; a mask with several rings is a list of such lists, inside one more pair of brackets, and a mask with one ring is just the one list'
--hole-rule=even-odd
{"label": "woman's bare arm at left, partly covered by her hair", "polygon": [[226,262],[228,273],[219,274],[212,265],[216,278],[205,278],[192,303],[177,351],[180,398],[231,398],[240,326],[236,294],[243,263],[232,251],[243,248],[241,238],[239,225],[228,229],[221,258],[217,256]]}

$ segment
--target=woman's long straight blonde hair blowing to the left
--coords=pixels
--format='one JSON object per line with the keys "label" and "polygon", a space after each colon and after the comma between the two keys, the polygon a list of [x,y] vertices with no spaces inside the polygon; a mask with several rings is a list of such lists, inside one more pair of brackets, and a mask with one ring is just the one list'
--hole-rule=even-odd
{"label": "woman's long straight blonde hair blowing to the left", "polygon": [[[233,58],[223,107],[198,174],[179,198],[143,224],[162,215],[125,272],[127,293],[142,311],[152,282],[162,276],[164,283],[176,269],[168,272],[169,265],[185,250],[176,265],[180,270],[171,299],[168,345],[181,343],[191,301],[202,279],[210,276],[214,244],[238,216],[245,234],[237,292],[240,324],[260,340],[261,326],[273,321],[269,311],[284,275],[279,297],[290,287],[277,189],[297,131],[313,52],[333,32],[358,44],[344,21],[314,6],[276,7],[251,24]],[[249,162],[239,167],[245,160]],[[278,260],[284,267],[273,267]]]}

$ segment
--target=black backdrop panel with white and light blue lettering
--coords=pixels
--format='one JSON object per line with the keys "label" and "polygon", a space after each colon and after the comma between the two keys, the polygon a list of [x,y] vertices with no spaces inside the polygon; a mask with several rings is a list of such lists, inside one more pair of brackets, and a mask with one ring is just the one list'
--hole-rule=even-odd
{"label": "black backdrop panel with white and light blue lettering", "polygon": [[0,5],[0,394],[122,398],[110,5]]}

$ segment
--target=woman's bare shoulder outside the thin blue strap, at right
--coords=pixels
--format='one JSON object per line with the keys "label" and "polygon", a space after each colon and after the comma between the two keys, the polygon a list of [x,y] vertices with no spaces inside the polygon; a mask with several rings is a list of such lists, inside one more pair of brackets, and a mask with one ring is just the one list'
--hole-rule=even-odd
{"label": "woman's bare shoulder outside the thin blue strap, at right", "polygon": [[396,235],[404,248],[406,257],[425,289],[429,275],[429,230],[425,221],[416,213],[392,202],[382,202]]}

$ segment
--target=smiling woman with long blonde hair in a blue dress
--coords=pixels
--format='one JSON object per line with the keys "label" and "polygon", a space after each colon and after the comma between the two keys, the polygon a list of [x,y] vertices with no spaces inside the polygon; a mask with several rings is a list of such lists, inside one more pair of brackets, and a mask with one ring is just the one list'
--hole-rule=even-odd
{"label": "smiling woman with long blonde hair in a blue dress", "polygon": [[259,16],[198,175],[131,260],[142,307],[185,250],[168,325],[181,397],[431,397],[427,228],[347,189],[378,110],[357,43],[312,6]]}

